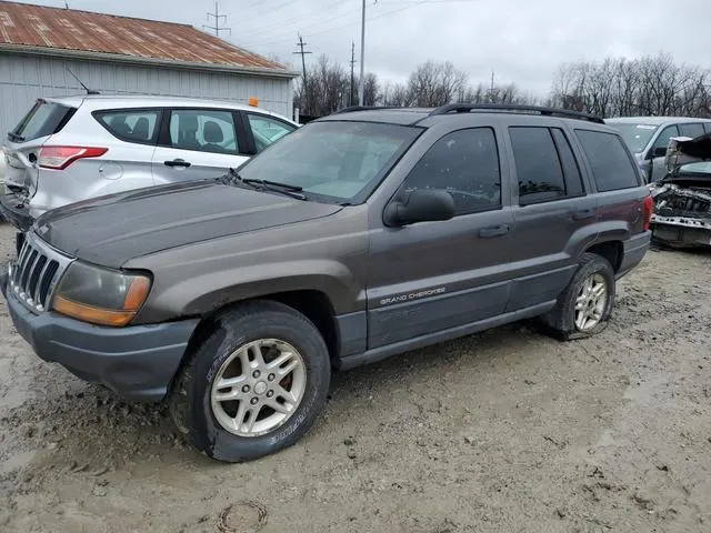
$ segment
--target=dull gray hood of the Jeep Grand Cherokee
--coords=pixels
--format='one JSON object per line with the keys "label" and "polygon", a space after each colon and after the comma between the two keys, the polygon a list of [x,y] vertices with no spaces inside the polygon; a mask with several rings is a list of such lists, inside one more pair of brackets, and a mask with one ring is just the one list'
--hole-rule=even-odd
{"label": "dull gray hood of the Jeep Grand Cherokee", "polygon": [[37,219],[34,231],[69,255],[118,269],[161,250],[328,217],[341,209],[214,181],[192,181],[54,209]]}

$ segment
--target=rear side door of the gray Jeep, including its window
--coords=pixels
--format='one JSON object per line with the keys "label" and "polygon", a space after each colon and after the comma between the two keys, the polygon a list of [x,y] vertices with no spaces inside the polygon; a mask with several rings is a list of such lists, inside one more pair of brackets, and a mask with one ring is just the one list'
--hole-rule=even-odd
{"label": "rear side door of the gray Jeep, including its window", "polygon": [[515,165],[514,282],[507,312],[555,300],[577,268],[575,243],[594,238],[598,201],[585,194],[569,134],[559,127],[509,127]]}

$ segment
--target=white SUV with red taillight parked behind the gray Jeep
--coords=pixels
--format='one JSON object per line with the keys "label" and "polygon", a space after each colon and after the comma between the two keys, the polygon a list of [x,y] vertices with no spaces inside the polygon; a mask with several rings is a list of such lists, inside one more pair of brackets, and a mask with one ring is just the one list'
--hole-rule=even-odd
{"label": "white SUV with red taillight parked behind the gray Jeep", "polygon": [[8,132],[0,213],[26,229],[89,198],[217,178],[299,127],[230,102],[166,97],[40,99]]}

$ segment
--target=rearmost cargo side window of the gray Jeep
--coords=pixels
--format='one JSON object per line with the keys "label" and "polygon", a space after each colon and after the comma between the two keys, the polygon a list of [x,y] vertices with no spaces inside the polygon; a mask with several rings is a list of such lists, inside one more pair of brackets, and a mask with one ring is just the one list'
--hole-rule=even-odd
{"label": "rearmost cargo side window of the gray Jeep", "polygon": [[592,168],[598,191],[617,191],[640,185],[640,177],[622,140],[612,133],[575,130]]}

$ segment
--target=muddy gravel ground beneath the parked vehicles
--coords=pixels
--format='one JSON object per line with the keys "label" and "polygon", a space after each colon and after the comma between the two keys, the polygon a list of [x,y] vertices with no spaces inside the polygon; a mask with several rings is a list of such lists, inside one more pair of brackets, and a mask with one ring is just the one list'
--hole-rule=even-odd
{"label": "muddy gravel ground beneath the parked vehicles", "polygon": [[711,253],[650,251],[618,291],[594,339],[515,324],[337,375],[241,465],[40,361],[2,301],[0,531],[709,532]]}

